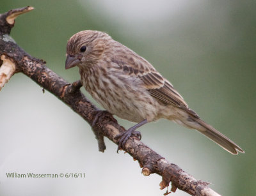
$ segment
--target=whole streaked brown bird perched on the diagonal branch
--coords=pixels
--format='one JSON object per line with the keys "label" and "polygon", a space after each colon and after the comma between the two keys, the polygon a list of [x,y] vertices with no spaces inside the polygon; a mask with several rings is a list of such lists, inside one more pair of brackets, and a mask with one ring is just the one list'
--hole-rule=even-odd
{"label": "whole streaked brown bird perched on the diagonal branch", "polygon": [[117,136],[118,149],[136,128],[160,118],[198,130],[229,153],[241,147],[205,123],[152,64],[107,33],[81,31],[67,43],[66,69],[79,67],[86,91],[111,114],[136,124]]}

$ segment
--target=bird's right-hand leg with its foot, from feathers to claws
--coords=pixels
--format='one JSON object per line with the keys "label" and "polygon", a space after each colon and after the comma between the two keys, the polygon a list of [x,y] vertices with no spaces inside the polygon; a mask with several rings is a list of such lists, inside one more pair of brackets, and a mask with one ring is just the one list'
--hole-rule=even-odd
{"label": "bird's right-hand leg with its foot, from feathers to claws", "polygon": [[140,126],[142,126],[143,124],[146,124],[147,122],[148,122],[147,119],[145,119],[145,120],[141,121],[140,123],[135,124],[134,126],[129,128],[126,132],[116,135],[115,139],[120,138],[118,141],[117,152],[120,150],[120,148],[122,146],[124,146],[124,144],[127,142],[129,137],[131,137],[131,135],[135,135],[136,137],[138,137],[138,139],[141,140],[141,133],[137,132],[136,129],[139,128]]}

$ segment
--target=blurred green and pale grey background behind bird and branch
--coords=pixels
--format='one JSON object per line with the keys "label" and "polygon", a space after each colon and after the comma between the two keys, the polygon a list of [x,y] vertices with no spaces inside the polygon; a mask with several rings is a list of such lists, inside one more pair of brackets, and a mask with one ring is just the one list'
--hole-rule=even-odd
{"label": "blurred green and pale grey background behind bird and branch", "polygon": [[[141,127],[142,142],[221,195],[255,195],[255,1],[2,0],[0,13],[28,5],[35,10],[18,17],[11,33],[20,47],[72,82],[79,73],[65,70],[68,38],[85,29],[109,33],[152,63],[191,109],[246,153],[230,155],[198,132],[166,120]],[[160,176],[143,176],[138,162],[116,154],[108,139],[106,152],[99,153],[90,126],[21,73],[1,90],[0,110],[0,195],[165,192],[159,190]],[[18,179],[6,172],[86,176]],[[175,195],[188,194],[177,190]]]}

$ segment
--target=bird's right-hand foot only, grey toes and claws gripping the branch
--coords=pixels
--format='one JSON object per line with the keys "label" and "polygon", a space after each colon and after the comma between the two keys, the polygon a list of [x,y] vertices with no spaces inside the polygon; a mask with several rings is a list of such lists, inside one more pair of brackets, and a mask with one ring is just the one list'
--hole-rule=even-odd
{"label": "bird's right-hand foot only, grey toes and claws gripping the branch", "polygon": [[135,137],[137,137],[139,140],[141,140],[141,133],[136,131],[136,128],[134,128],[133,126],[131,128],[129,128],[129,130],[127,130],[124,133],[120,133],[118,135],[116,135],[115,139],[119,139],[118,140],[118,147],[117,147],[117,153],[118,151],[125,145],[125,143],[127,142],[127,140],[134,135]]}

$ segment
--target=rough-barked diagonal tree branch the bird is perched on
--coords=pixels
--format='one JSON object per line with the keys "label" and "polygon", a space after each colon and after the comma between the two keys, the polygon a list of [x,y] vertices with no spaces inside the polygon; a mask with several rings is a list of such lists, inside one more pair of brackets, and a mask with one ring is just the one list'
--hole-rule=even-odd
{"label": "rough-barked diagonal tree branch the bird is perched on", "polygon": [[[47,68],[44,61],[31,57],[22,50],[10,37],[15,18],[31,10],[33,8],[28,6],[10,10],[0,15],[0,90],[14,73],[22,72],[66,103],[92,126],[93,119],[97,116],[99,109],[81,93],[79,90],[81,83],[68,83]],[[99,142],[99,150],[104,151],[106,147],[103,136],[117,144],[118,141],[115,140],[115,136],[120,132],[125,132],[125,129],[117,123],[111,114],[105,112],[103,117],[100,117],[93,126],[93,131]],[[143,168],[143,175],[149,176],[156,173],[163,177],[160,183],[161,189],[166,188],[172,182],[172,192],[179,188],[190,195],[219,195],[208,187],[209,183],[197,181],[179,166],[168,162],[136,138],[127,140],[124,150],[138,160]]]}

